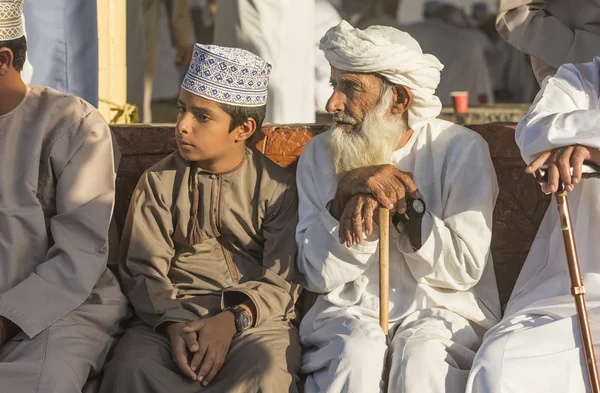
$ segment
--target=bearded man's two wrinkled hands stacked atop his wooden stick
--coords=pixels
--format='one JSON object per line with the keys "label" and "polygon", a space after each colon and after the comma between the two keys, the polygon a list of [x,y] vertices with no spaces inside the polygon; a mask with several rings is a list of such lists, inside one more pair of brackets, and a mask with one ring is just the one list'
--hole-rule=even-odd
{"label": "bearded man's two wrinkled hands stacked atop his wooden stick", "polygon": [[361,244],[363,230],[367,236],[373,232],[379,206],[405,213],[407,194],[420,198],[412,174],[390,164],[362,167],[345,174],[330,208],[331,215],[340,222],[340,243],[347,247]]}

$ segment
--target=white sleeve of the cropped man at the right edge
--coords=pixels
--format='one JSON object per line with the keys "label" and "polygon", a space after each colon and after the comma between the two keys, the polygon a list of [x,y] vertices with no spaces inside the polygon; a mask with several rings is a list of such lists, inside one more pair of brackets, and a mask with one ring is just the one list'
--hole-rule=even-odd
{"label": "white sleeve of the cropped man at the right edge", "polygon": [[[586,64],[585,66],[596,66]],[[515,134],[517,145],[526,163],[541,153],[576,144],[600,148],[600,109],[591,109],[592,97],[587,91],[590,82],[582,78],[572,64],[562,66],[554,77],[548,78],[542,90],[521,119]],[[599,76],[596,76],[596,86]],[[596,100],[598,88],[595,88]]]}

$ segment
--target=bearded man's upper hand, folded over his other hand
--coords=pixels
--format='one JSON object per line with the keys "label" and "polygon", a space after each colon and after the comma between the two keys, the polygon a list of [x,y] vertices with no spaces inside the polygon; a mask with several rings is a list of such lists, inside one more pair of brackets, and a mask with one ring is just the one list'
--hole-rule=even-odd
{"label": "bearded man's upper hand, folded over his other hand", "polygon": [[382,206],[402,214],[406,211],[407,193],[414,199],[420,198],[412,174],[390,164],[358,168],[340,180],[331,214],[340,220],[350,198],[358,194],[371,195]]}

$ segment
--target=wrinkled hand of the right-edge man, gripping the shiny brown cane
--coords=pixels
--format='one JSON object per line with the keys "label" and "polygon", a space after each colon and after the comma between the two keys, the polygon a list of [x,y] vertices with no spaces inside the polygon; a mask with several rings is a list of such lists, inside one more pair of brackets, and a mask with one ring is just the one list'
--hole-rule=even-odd
{"label": "wrinkled hand of the right-edge man, gripping the shiny brown cane", "polygon": [[548,183],[542,185],[542,191],[556,192],[559,181],[565,185],[565,190],[573,191],[574,186],[581,180],[583,162],[588,160],[600,164],[600,150],[582,145],[561,147],[541,154],[529,164],[525,172],[535,173],[542,166],[548,165]]}

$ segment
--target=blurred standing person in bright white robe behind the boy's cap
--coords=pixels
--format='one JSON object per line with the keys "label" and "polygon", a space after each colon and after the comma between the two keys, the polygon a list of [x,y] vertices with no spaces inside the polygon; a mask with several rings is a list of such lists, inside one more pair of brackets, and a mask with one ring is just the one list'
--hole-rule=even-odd
{"label": "blurred standing person in bright white robe behind the boy's cap", "polygon": [[215,44],[273,65],[268,123],[315,121],[315,0],[219,0]]}

